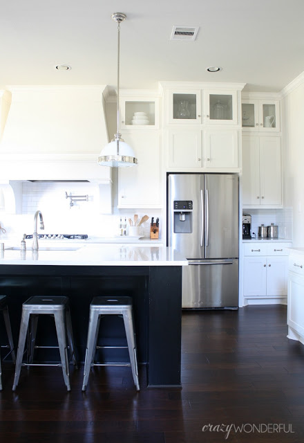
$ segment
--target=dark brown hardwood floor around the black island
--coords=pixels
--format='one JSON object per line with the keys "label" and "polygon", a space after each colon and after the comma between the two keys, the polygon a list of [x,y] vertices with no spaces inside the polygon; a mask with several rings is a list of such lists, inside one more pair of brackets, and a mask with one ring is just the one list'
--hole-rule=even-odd
{"label": "dark brown hardwood floor around the black island", "polygon": [[136,392],[130,368],[94,368],[82,393],[81,366],[69,393],[46,367],[23,368],[12,392],[4,362],[1,442],[303,442],[304,346],[286,335],[283,306],[184,312],[182,389]]}

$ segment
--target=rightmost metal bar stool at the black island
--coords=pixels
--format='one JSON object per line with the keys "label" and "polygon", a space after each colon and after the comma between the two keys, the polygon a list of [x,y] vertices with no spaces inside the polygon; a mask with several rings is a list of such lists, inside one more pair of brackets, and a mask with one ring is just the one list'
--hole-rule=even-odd
{"label": "rightmost metal bar stool at the black island", "polygon": [[[97,346],[100,318],[104,315],[122,315],[128,346]],[[129,349],[130,363],[94,363],[95,353],[99,348],[126,348]],[[90,305],[90,320],[88,323],[88,340],[86,343],[86,361],[84,362],[84,383],[82,390],[86,390],[88,376],[92,366],[131,366],[134,384],[140,390],[137,369],[137,352],[135,332],[133,326],[131,297],[95,297]]]}

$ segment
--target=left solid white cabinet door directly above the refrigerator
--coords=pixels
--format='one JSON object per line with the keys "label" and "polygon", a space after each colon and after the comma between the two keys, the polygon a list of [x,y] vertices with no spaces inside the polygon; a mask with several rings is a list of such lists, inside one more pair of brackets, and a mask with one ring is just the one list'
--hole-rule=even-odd
{"label": "left solid white cabinet door directly above the refrigerator", "polygon": [[169,168],[202,167],[202,134],[197,130],[169,131]]}

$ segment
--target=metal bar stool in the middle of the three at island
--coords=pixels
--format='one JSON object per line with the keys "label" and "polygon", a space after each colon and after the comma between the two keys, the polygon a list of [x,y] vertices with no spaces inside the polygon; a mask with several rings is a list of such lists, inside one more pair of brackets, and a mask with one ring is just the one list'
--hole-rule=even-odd
{"label": "metal bar stool in the middle of the three at island", "polygon": [[[41,314],[51,315],[55,318],[58,346],[35,346],[37,323],[39,315]],[[22,363],[27,335],[28,359],[27,363]],[[64,374],[64,383],[66,383],[66,388],[70,390],[70,373],[68,368],[68,347],[66,344],[66,336],[68,336],[68,346],[70,347],[70,354],[73,359],[73,363],[77,368],[68,297],[34,296],[28,298],[28,300],[26,300],[26,302],[24,302],[22,305],[15,379],[12,390],[16,390],[18,386],[21,366],[61,366]],[[34,350],[38,347],[59,348],[61,363],[32,363]]]}

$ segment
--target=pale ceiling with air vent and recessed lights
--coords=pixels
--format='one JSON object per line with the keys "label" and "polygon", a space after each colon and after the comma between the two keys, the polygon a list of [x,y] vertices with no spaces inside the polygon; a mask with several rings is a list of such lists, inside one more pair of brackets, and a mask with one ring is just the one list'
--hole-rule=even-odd
{"label": "pale ceiling with air vent and recessed lights", "polygon": [[[3,6],[4,5],[4,6]],[[303,0],[14,0],[0,14],[0,88],[19,84],[156,89],[159,80],[244,82],[281,91],[304,71]],[[200,26],[195,42],[171,41],[173,25]],[[70,71],[57,71],[68,64]],[[207,66],[222,66],[208,73]]]}

